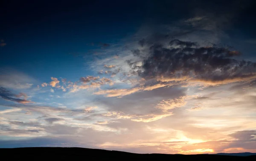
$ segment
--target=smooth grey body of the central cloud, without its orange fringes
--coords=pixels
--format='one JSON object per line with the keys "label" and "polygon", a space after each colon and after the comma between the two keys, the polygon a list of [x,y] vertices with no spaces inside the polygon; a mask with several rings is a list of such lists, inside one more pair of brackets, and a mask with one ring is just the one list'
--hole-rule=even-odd
{"label": "smooth grey body of the central cloud, without its orange fringes", "polygon": [[107,107],[110,111],[122,111],[125,113],[158,113],[154,106],[163,99],[175,99],[185,96],[185,88],[157,88],[154,90],[132,93],[122,98],[99,96],[93,101],[96,105]]}

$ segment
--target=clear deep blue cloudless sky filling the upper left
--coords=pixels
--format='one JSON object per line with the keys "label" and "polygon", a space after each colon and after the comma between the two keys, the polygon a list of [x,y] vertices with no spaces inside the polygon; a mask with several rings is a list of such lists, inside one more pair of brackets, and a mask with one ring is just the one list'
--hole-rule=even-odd
{"label": "clear deep blue cloudless sky filling the upper left", "polygon": [[[115,42],[135,31],[145,14],[142,3],[89,1],[11,2],[1,5],[1,66],[40,76],[52,71],[65,76],[81,70],[84,60],[71,53],[90,54],[99,43]],[[94,46],[87,45],[94,43]],[[61,68],[62,70],[59,70]],[[86,70],[85,70],[86,71]],[[70,74],[70,73],[69,73]]]}

